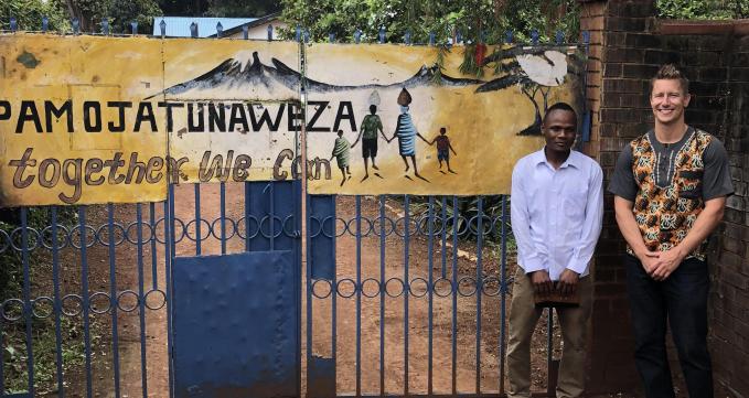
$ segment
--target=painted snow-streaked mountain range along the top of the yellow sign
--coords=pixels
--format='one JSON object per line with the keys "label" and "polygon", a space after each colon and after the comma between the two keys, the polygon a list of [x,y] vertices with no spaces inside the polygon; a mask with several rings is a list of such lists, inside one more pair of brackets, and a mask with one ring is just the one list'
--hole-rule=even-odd
{"label": "painted snow-streaked mountain range along the top of the yellow sign", "polygon": [[[242,62],[236,58],[228,58],[218,66],[195,77],[192,80],[176,84],[164,89],[168,96],[189,96],[197,95],[203,92],[223,93],[225,98],[233,98],[240,93],[272,93],[277,98],[282,93],[291,94],[299,92],[301,74],[277,58],[271,58],[272,66],[265,65],[257,52],[253,52],[250,62]],[[387,87],[417,87],[426,85],[437,85],[435,74],[437,66],[421,66],[410,78],[387,85],[370,84],[360,86],[333,85],[313,79],[307,79],[307,90],[311,93],[345,92],[354,89],[387,88]],[[480,85],[485,82],[470,78],[456,78],[441,75],[442,86],[469,86]],[[234,93],[234,95],[233,95]],[[147,98],[150,99],[156,95]]]}

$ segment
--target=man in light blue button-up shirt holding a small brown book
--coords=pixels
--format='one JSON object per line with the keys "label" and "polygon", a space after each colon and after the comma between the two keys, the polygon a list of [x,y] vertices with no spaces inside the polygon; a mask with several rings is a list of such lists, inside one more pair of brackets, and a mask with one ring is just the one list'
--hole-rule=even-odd
{"label": "man in light blue button-up shirt holding a small brown book", "polygon": [[548,108],[542,125],[546,146],[521,159],[512,173],[512,229],[517,272],[510,304],[509,397],[531,397],[531,337],[543,308],[534,295],[579,297],[557,306],[564,351],[557,398],[585,389],[585,344],[592,286],[588,263],[603,217],[603,172],[571,150],[577,115],[564,103]]}

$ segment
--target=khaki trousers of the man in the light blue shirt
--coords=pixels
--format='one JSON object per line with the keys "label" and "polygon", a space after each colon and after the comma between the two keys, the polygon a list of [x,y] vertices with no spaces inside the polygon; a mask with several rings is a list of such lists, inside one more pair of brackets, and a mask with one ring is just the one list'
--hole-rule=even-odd
{"label": "khaki trousers of the man in the light blue shirt", "polygon": [[[580,305],[556,309],[564,341],[557,398],[581,397],[585,390],[585,346],[592,303],[590,277],[581,278],[577,288],[580,290]],[[531,337],[543,311],[534,304],[531,277],[518,268],[510,304],[509,398],[531,397]]]}

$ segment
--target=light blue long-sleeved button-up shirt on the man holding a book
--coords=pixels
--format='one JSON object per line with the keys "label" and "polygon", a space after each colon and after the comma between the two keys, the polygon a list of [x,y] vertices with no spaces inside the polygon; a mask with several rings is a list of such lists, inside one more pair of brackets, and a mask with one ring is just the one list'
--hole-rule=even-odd
{"label": "light blue long-sleeved button-up shirt on the man holding a book", "polygon": [[601,166],[571,151],[555,170],[542,149],[517,161],[511,195],[512,230],[523,270],[547,270],[552,280],[559,280],[565,268],[587,276],[603,219]]}

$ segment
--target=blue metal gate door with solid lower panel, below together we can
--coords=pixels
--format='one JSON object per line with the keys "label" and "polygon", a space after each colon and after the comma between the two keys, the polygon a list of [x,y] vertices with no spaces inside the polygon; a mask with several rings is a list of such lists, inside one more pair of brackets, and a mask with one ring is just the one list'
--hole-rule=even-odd
{"label": "blue metal gate door with solid lower panel, below together we can", "polygon": [[[174,258],[176,397],[299,396],[299,185],[246,183],[240,218],[226,215],[220,185],[221,218],[212,225],[221,225],[221,254]],[[196,215],[194,225],[202,219]],[[244,248],[227,254],[234,236]]]}

